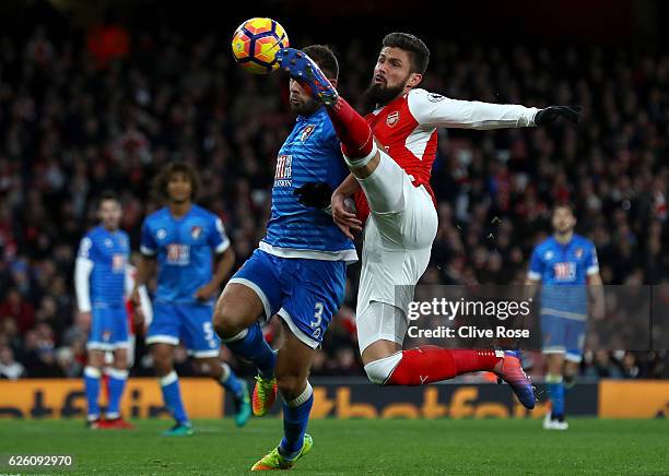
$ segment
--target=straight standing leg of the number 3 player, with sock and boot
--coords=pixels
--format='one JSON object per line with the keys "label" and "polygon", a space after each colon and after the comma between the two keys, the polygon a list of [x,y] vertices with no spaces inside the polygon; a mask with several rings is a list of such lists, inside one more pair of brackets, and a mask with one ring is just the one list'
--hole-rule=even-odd
{"label": "straight standing leg of the number 3 player, with sock and boot", "polygon": [[[283,322],[282,322],[283,323]],[[314,349],[300,341],[283,323],[285,340],[277,359],[277,380],[283,397],[283,439],[251,471],[289,469],[313,447],[306,435],[314,391],[307,378]]]}

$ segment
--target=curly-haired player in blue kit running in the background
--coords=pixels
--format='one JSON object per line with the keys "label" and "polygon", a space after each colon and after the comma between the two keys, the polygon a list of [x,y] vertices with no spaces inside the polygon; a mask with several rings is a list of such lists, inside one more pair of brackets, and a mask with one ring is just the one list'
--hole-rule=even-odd
{"label": "curly-haired player in blue kit running in the background", "polygon": [[234,252],[221,218],[193,203],[200,178],[192,166],[167,165],[155,186],[167,204],[142,224],[142,259],[136,286],[145,284],[157,267],[146,344],[151,346],[165,406],[176,420],[164,435],[192,435],[173,365],[174,348],[179,342],[192,355],[200,373],[212,377],[231,392],[235,423],[243,426],[250,416],[246,382],[220,360],[221,341],[211,322],[213,299],[232,269]]}

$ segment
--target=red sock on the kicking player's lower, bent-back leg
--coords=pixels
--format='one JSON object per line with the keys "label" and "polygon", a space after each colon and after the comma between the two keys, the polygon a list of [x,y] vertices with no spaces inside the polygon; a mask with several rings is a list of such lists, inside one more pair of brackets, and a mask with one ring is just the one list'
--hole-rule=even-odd
{"label": "red sock on the kicking player's lower, bent-back leg", "polygon": [[449,349],[424,345],[402,350],[387,385],[422,385],[453,379],[462,373],[493,371],[502,360],[494,350]]}

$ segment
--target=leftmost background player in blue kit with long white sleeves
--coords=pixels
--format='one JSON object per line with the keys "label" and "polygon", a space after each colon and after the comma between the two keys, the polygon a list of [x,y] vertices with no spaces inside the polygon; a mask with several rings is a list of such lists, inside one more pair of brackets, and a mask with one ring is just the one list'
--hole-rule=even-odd
{"label": "leftmost background player in blue kit with long white sleeves", "polygon": [[[121,419],[119,405],[128,379],[129,332],[126,296],[131,289],[128,259],[130,240],[119,229],[121,205],[111,193],[98,203],[101,224],[81,240],[74,266],[74,288],[80,314],[91,322],[86,344],[89,359],[84,384],[89,428],[131,428]],[[114,354],[109,377],[106,419],[101,419],[97,400],[105,353]]]}

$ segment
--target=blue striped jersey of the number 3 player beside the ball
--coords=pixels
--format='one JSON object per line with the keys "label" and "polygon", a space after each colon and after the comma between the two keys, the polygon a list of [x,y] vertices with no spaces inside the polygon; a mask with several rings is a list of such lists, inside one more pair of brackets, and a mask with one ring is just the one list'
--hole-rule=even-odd
{"label": "blue striped jersey of the number 3 player beside the ball", "polygon": [[349,175],[337,133],[325,108],[300,116],[277,158],[272,211],[260,249],[282,258],[355,261],[353,242],[321,210],[297,201],[295,189],[306,182],[332,188]]}

